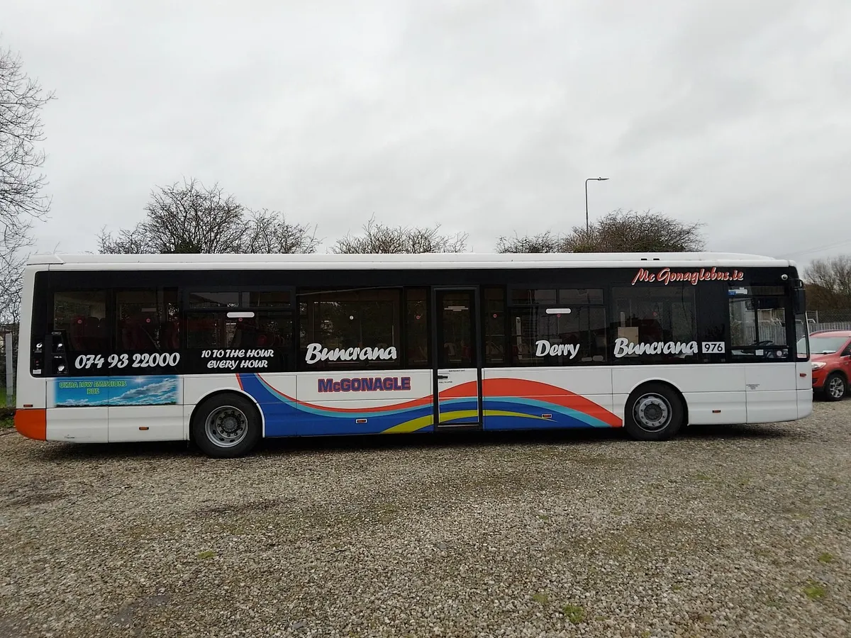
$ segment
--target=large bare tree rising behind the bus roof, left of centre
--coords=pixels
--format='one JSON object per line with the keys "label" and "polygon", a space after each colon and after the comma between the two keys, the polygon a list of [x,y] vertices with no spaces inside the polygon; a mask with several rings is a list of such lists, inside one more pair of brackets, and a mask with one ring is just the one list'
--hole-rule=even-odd
{"label": "large bare tree rising behind the bus roof, left of centre", "polygon": [[219,185],[184,179],[151,191],[146,219],[113,236],[100,232],[101,253],[312,253],[318,240],[306,225],[243,207]]}

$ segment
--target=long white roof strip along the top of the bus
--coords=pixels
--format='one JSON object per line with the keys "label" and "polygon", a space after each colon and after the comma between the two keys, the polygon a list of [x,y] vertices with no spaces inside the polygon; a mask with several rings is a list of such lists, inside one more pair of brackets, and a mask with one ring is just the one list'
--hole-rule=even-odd
{"label": "long white roof strip along the top of the bus", "polygon": [[422,253],[422,254],[36,254],[51,270],[416,270],[452,268],[788,267],[795,262],[738,253]]}

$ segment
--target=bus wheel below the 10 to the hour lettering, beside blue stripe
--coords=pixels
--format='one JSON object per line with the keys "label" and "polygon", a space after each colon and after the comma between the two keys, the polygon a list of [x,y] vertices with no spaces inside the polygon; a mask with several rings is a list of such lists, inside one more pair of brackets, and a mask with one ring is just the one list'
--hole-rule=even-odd
{"label": "bus wheel below the 10 to the hour lettering, beside blue stripe", "polygon": [[192,415],[192,438],[214,459],[232,459],[251,451],[262,435],[260,412],[233,392],[211,396]]}

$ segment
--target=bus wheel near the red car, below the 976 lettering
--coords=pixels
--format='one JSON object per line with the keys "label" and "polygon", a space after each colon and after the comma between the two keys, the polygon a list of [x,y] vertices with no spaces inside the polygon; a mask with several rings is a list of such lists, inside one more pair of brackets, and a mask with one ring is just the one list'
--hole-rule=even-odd
{"label": "bus wheel near the red car, below the 976 lettering", "polygon": [[642,385],[626,400],[624,428],[638,441],[670,439],[683,427],[684,421],[683,399],[670,385]]}

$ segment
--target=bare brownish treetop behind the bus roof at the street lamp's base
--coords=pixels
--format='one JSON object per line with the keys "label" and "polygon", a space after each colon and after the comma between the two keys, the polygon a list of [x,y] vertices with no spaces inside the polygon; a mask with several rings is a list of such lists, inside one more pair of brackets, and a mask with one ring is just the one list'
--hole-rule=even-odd
{"label": "bare brownish treetop behind the bus roof at the street lamp's base", "polygon": [[565,236],[550,231],[535,236],[500,238],[500,253],[693,253],[703,250],[701,224],[664,214],[615,210],[587,230],[574,226]]}

